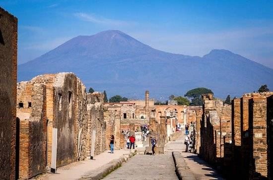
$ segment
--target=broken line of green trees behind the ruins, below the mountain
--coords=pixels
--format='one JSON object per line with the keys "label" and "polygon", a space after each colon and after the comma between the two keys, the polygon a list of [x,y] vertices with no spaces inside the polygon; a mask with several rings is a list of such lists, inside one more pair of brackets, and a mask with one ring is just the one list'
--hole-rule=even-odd
{"label": "broken line of green trees behind the ruins, below the mountain", "polygon": [[[262,85],[258,92],[268,92],[270,91],[268,89],[267,85]],[[94,90],[93,88],[89,88],[89,93],[93,93]],[[255,91],[254,91],[255,92]],[[205,93],[212,93],[212,90],[209,90],[207,88],[195,88],[193,90],[189,90],[186,92],[186,94],[183,96],[175,96],[175,95],[170,95],[168,98],[169,100],[176,100],[178,105],[187,105],[187,106],[202,106],[203,105],[203,100],[202,100],[202,94]],[[123,97],[121,95],[114,95],[112,96],[109,101],[107,98],[107,94],[106,91],[103,91],[104,94],[104,102],[112,102],[112,103],[117,103],[117,102],[121,102],[121,101],[128,101],[127,97]],[[235,97],[234,97],[235,98]],[[231,104],[231,98],[230,95],[227,95],[226,99],[223,101],[225,104]],[[154,102],[155,105],[167,105],[168,104],[168,100],[161,102],[159,100]]]}

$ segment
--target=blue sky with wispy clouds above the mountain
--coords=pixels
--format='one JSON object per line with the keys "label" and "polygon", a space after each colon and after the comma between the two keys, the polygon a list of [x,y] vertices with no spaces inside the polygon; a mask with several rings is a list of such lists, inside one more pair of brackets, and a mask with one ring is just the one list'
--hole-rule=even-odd
{"label": "blue sky with wispy clouds above the mountain", "polygon": [[18,18],[18,63],[115,29],[185,55],[228,49],[273,68],[273,0],[0,0]]}

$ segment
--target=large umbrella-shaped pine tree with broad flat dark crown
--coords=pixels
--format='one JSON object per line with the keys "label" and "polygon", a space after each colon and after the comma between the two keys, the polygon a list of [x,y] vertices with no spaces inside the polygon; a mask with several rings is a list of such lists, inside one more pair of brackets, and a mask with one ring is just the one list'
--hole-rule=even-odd
{"label": "large umbrella-shaped pine tree with broad flat dark crown", "polygon": [[202,106],[203,100],[201,95],[205,93],[212,93],[213,92],[206,88],[196,88],[193,90],[189,90],[184,96],[191,98],[192,102],[190,103],[191,106]]}

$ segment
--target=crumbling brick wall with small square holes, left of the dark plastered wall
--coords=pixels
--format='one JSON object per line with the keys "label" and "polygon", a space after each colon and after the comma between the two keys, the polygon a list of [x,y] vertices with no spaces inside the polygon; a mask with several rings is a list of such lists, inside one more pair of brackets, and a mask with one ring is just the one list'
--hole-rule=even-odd
{"label": "crumbling brick wall with small square holes, left of the dark plastered wall", "polygon": [[[44,85],[22,85],[17,101],[24,99],[25,92],[29,95],[31,86],[31,107],[29,119],[20,119],[20,161],[19,178],[31,178],[46,171],[46,87]],[[25,90],[25,91],[24,91]],[[20,108],[21,110],[23,108]],[[17,112],[20,114],[20,112]]]}

